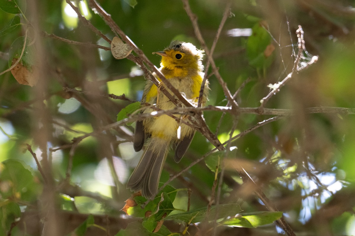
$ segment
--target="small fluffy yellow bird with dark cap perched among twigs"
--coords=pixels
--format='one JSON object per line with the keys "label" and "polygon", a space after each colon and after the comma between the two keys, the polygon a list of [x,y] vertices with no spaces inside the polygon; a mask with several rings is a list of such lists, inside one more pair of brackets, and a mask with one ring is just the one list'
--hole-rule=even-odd
{"label": "small fluffy yellow bird with dark cap perched among twigs", "polygon": [[[182,96],[197,106],[204,76],[203,51],[196,49],[191,43],[173,41],[164,51],[155,53],[162,56],[160,72],[179,90]],[[153,75],[162,85],[161,80],[154,73]],[[159,89],[160,86],[158,88],[148,80],[144,88],[142,102],[156,104],[155,106],[162,110],[174,109],[175,104]],[[168,91],[171,93],[169,89]],[[202,105],[206,102],[208,92],[209,88],[206,82]],[[151,113],[152,111],[154,111],[152,108],[147,108],[143,113]],[[181,115],[175,116],[181,117]],[[188,119],[183,119],[188,122]],[[189,148],[195,134],[193,128],[182,123],[180,139],[178,139],[178,128],[179,122],[168,115],[150,117],[144,121],[136,122],[133,146],[135,151],[140,151],[145,144],[145,151],[128,180],[127,188],[132,191],[142,190],[144,197],[157,194],[160,174],[171,144],[176,144],[174,160],[179,162]],[[147,141],[144,143],[146,139]]]}

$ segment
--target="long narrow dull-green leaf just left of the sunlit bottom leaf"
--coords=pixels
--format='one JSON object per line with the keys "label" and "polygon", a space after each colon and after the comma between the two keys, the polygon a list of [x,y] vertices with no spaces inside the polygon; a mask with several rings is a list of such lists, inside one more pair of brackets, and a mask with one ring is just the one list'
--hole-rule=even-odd
{"label": "long narrow dull-green leaf just left of the sunlit bottom leaf", "polygon": [[[208,214],[208,219],[207,220],[213,220],[215,218],[217,219],[222,219],[230,216],[234,216],[241,212],[241,209],[238,204],[222,204],[217,206],[212,206],[211,210]],[[217,217],[216,217],[217,215]],[[198,209],[196,211],[191,211],[191,212],[185,212],[185,213],[179,213],[175,215],[170,215],[166,217],[166,220],[180,220],[184,221],[188,224],[193,224],[197,222],[202,222],[203,220],[206,220],[207,217],[207,207]]]}

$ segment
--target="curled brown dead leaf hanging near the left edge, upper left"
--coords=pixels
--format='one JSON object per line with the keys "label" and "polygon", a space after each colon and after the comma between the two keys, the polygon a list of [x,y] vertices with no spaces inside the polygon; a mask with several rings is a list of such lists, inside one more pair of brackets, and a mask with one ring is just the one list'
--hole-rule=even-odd
{"label": "curled brown dead leaf hanging near the left edge, upper left", "polygon": [[[11,66],[15,64],[16,61],[17,59],[13,58]],[[36,67],[32,66],[31,69],[32,71],[29,71],[28,68],[24,66],[20,61],[14,68],[12,68],[11,73],[19,84],[33,87],[35,84],[37,84],[39,74]]]}

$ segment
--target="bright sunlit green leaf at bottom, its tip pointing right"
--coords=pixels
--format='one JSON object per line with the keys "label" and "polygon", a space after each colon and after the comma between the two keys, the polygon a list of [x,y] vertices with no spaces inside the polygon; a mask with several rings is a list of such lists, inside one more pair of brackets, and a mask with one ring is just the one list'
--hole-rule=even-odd
{"label": "bright sunlit green leaf at bottom, its tip pointing right", "polygon": [[262,225],[272,224],[275,220],[282,217],[283,212],[255,212],[241,214],[241,217],[236,217],[223,222],[223,225],[230,225],[243,228],[256,228]]}

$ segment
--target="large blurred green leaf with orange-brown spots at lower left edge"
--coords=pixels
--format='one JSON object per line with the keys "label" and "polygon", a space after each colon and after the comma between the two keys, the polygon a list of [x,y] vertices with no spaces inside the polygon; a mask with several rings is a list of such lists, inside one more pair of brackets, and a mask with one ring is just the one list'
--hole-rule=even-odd
{"label": "large blurred green leaf with orange-brown spots at lower left edge", "polygon": [[3,199],[35,201],[42,192],[42,185],[34,179],[31,172],[21,162],[8,159],[0,165],[1,188]]}

